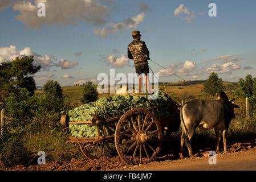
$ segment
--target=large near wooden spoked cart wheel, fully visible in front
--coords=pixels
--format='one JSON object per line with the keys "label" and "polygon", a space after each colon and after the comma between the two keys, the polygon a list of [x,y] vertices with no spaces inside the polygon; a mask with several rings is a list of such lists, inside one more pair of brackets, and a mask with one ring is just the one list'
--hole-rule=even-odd
{"label": "large near wooden spoked cart wheel, fully visible in front", "polygon": [[115,131],[115,146],[126,164],[151,162],[159,154],[161,145],[161,126],[153,111],[132,109],[119,119]]}

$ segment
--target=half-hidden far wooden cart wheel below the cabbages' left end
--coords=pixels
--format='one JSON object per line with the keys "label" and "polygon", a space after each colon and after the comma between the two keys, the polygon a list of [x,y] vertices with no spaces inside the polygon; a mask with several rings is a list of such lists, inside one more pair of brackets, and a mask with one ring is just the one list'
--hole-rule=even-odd
{"label": "half-hidden far wooden cart wheel below the cabbages' left end", "polygon": [[101,157],[109,156],[115,151],[115,144],[113,143],[83,143],[79,144],[83,155],[88,159],[99,159]]}

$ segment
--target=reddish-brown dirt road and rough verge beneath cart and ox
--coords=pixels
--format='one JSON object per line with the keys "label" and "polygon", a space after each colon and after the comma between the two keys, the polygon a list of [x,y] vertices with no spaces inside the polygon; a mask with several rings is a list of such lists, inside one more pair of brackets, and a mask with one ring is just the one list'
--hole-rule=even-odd
{"label": "reddish-brown dirt road and rough verge beneath cart and ox", "polygon": [[[176,147],[177,148],[177,147]],[[0,164],[1,170],[15,171],[116,171],[116,170],[254,170],[256,171],[256,140],[250,142],[239,142],[229,145],[229,153],[217,154],[217,164],[210,165],[209,151],[210,148],[196,149],[193,159],[179,159],[177,152],[169,152],[162,154],[154,162],[140,166],[127,166],[124,164],[118,155],[109,156],[95,160],[88,159],[71,159],[63,162],[47,162],[46,165],[31,165],[31,166],[15,166],[11,168],[3,167]],[[213,148],[213,147],[212,147]]]}

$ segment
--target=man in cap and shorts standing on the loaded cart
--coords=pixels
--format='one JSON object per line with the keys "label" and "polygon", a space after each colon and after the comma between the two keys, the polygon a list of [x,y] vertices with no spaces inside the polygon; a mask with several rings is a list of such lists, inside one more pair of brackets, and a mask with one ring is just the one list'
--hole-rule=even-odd
{"label": "man in cap and shorts standing on the loaded cart", "polygon": [[133,41],[128,45],[128,57],[129,59],[133,59],[135,63],[135,71],[137,75],[139,75],[139,92],[141,93],[141,80],[142,75],[144,73],[146,78],[146,88],[148,93],[151,93],[148,80],[148,60],[149,51],[144,41],[140,40],[140,31],[132,31]]}

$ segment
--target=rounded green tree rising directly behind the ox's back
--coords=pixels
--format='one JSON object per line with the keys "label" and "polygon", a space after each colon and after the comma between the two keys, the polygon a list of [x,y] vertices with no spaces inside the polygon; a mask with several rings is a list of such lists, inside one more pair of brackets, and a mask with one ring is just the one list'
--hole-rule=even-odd
{"label": "rounded green tree rising directly behind the ox's back", "polygon": [[222,79],[217,73],[211,73],[209,78],[204,83],[204,91],[214,96],[218,92],[224,91]]}

